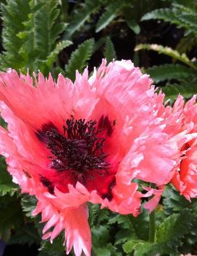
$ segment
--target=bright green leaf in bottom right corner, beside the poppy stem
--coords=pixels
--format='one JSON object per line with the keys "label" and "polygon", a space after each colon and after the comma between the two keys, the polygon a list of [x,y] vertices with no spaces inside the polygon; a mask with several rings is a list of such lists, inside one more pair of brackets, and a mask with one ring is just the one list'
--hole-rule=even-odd
{"label": "bright green leaf in bottom right corner, beside the poppy stem", "polygon": [[163,222],[156,228],[156,241],[150,243],[132,239],[127,241],[123,248],[124,252],[134,252],[138,256],[169,255],[172,253],[178,254],[178,247],[180,247],[180,238],[190,233],[193,218],[196,214],[190,209],[182,209],[180,213],[172,214],[163,220]]}

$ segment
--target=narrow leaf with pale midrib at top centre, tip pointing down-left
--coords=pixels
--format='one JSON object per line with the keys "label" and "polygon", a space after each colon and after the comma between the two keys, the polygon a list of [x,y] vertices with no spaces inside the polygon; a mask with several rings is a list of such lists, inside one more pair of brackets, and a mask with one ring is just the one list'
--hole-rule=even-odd
{"label": "narrow leaf with pale midrib at top centre, tip pointing down-left", "polygon": [[116,18],[116,15],[120,11],[120,9],[124,6],[124,1],[113,1],[112,3],[108,4],[105,9],[105,12],[102,13],[100,19],[96,25],[96,32],[101,31],[103,28],[108,26],[111,21]]}

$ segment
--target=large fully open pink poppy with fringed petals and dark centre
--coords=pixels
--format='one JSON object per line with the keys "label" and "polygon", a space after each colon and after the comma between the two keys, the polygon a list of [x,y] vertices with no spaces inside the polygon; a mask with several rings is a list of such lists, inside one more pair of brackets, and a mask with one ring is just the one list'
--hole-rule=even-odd
{"label": "large fully open pink poppy with fringed petals and dark centre", "polygon": [[[173,149],[157,117],[148,75],[131,61],[105,61],[92,77],[76,72],[39,79],[0,74],[0,153],[23,193],[36,195],[44,237],[65,230],[67,253],[90,255],[87,202],[137,216],[142,194],[133,179],[164,185]],[[53,227],[53,230],[52,230]]]}

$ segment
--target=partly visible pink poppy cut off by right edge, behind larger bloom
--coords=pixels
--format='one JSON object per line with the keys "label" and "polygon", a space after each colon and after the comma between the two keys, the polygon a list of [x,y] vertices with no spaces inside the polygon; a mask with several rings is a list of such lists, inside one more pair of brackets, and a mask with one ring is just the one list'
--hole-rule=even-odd
{"label": "partly visible pink poppy cut off by right edge, behind larger bloom", "polygon": [[186,104],[178,96],[173,107],[162,104],[164,96],[156,96],[160,102],[158,115],[166,123],[164,131],[169,134],[169,143],[177,152],[172,184],[181,195],[190,200],[197,196],[197,106],[196,96]]}

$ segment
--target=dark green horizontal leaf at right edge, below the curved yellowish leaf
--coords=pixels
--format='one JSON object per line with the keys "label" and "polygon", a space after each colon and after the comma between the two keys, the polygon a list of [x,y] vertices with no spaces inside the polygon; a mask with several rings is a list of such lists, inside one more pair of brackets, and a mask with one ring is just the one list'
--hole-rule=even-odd
{"label": "dark green horizontal leaf at right edge, below the curved yellowish leaf", "polygon": [[190,69],[183,65],[174,65],[174,64],[164,64],[160,66],[153,66],[145,70],[147,74],[150,74],[150,77],[154,82],[161,82],[164,80],[171,79],[193,79],[197,78],[196,71]]}

